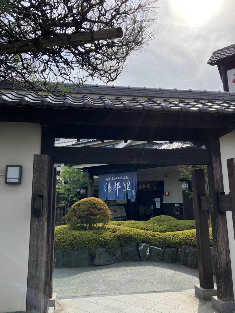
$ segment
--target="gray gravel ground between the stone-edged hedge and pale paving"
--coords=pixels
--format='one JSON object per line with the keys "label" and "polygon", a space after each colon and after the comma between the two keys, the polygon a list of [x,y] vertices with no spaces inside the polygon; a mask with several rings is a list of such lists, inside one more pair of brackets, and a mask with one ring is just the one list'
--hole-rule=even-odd
{"label": "gray gravel ground between the stone-edged hedge and pale paving", "polygon": [[194,289],[198,269],[179,263],[122,262],[84,268],[54,268],[57,297]]}

